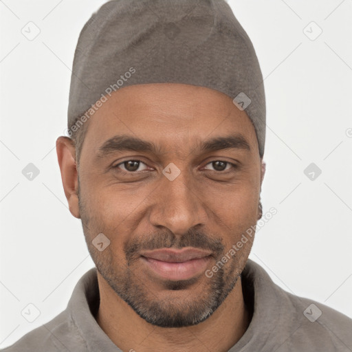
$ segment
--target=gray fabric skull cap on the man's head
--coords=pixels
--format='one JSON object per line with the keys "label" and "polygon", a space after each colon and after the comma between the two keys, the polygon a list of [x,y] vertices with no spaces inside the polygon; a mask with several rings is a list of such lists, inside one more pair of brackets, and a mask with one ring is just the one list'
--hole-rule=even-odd
{"label": "gray fabric skull cap on the man's head", "polygon": [[78,129],[78,120],[87,120],[87,111],[113,91],[146,83],[184,83],[227,94],[252,121],[263,157],[263,76],[248,34],[224,0],[104,3],[76,46],[68,130]]}

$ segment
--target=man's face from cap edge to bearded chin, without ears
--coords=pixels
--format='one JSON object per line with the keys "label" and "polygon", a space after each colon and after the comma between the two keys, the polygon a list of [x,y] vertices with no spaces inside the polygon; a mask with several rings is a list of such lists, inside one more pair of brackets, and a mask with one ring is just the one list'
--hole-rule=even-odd
{"label": "man's face from cap edge to bearded chin, without ears", "polygon": [[[88,123],[78,208],[98,272],[147,322],[198,324],[231,292],[252,248],[250,238],[212,270],[258,219],[261,159],[250,119],[212,89],[151,84],[116,91]],[[107,143],[122,135],[155,150]],[[244,141],[204,144],[226,137]],[[110,241],[102,251],[92,243],[100,233]],[[210,256],[188,266],[142,256],[160,248]]]}

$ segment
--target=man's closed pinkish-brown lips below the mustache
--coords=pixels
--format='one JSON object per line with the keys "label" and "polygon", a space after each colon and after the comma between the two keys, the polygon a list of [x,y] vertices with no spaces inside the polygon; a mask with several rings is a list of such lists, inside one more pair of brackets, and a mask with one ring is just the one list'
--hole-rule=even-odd
{"label": "man's closed pinkish-brown lips below the mustache", "polygon": [[154,275],[164,280],[188,280],[206,270],[212,255],[210,252],[186,248],[162,249],[143,252],[142,261]]}

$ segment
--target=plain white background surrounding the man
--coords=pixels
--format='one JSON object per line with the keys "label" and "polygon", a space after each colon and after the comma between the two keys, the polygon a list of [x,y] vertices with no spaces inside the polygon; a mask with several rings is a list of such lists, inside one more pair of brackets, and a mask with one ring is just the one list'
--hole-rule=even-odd
{"label": "plain white background surrounding the man", "polygon": [[[69,213],[55,141],[67,119],[78,34],[102,0],[3,0],[1,23],[0,347],[59,314],[94,267]],[[275,283],[352,317],[352,1],[233,0],[267,99],[263,212],[250,258]],[[29,41],[21,29],[41,33]],[[314,41],[304,28],[314,21]],[[309,25],[305,30],[316,34]],[[39,175],[22,174],[30,162]],[[303,172],[314,162],[314,181]],[[29,303],[41,314],[28,322]],[[323,312],[324,314],[324,312]]]}

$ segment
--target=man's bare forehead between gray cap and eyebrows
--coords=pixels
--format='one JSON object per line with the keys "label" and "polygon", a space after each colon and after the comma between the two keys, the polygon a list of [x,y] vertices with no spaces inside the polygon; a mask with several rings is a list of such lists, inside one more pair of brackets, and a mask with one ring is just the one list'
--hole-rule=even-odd
{"label": "man's bare forehead between gray cap and eyebrows", "polygon": [[206,87],[155,83],[115,91],[89,119],[85,140],[98,148],[124,134],[179,148],[231,133],[241,133],[256,150],[254,126],[229,96]]}

